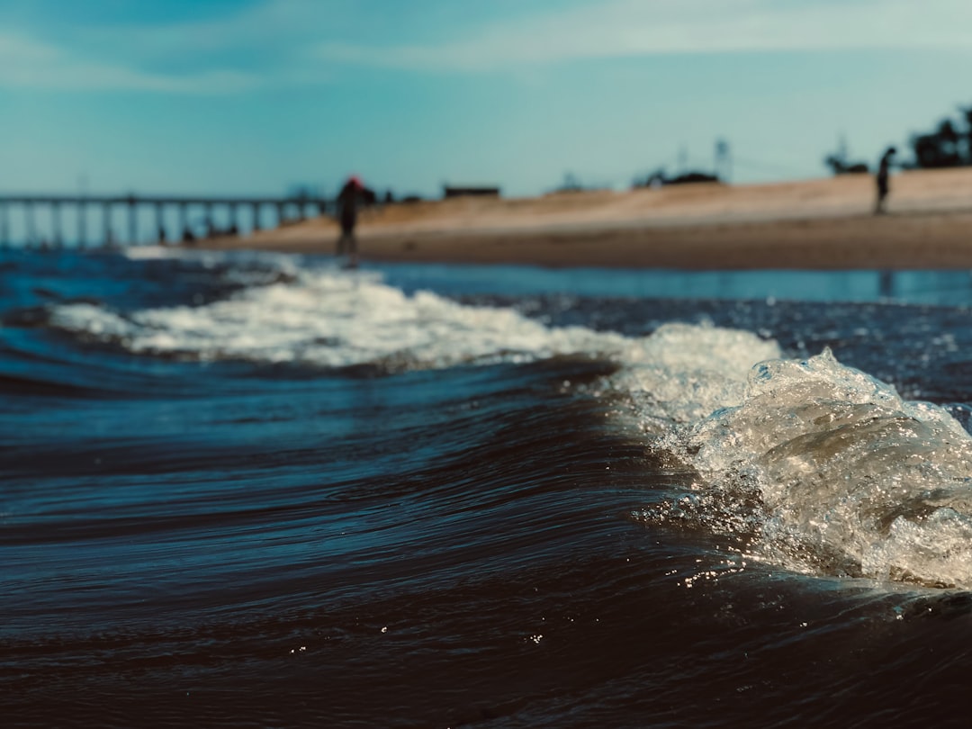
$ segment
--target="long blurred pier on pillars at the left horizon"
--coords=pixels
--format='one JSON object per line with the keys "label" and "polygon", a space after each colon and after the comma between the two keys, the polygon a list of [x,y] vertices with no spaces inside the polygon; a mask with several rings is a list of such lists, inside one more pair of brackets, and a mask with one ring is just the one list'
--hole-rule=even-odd
{"label": "long blurred pier on pillars at the left horizon", "polygon": [[[139,243],[191,243],[200,237],[234,235],[244,229],[260,230],[267,226],[283,226],[291,221],[303,221],[310,216],[325,215],[334,203],[324,198],[290,197],[228,197],[184,195],[88,195],[88,194],[0,194],[0,246],[65,245],[65,213],[74,218],[74,245],[89,246],[137,245]],[[123,211],[126,226],[123,235],[115,227],[117,211]],[[216,225],[216,215],[222,213],[226,226]],[[41,226],[38,216],[44,216]],[[201,223],[193,225],[191,216],[201,215]],[[146,235],[146,217],[154,226]],[[175,224],[173,224],[173,216]],[[100,222],[101,234],[89,229],[92,219]],[[13,229],[19,221],[22,235],[14,240]],[[142,225],[140,225],[140,223]],[[45,228],[46,232],[41,232]],[[174,231],[173,231],[173,228]],[[201,228],[201,229],[200,229]],[[142,234],[140,234],[142,233]],[[174,234],[173,234],[174,233]]]}

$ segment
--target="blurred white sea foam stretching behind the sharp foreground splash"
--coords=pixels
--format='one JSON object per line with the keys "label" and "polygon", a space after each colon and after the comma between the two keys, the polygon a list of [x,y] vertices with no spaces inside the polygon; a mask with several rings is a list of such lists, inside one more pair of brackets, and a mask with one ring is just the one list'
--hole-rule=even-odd
{"label": "blurred white sea foam stretching behind the sharp foreground splash", "polygon": [[553,328],[510,308],[463,305],[429,292],[406,295],[374,273],[300,267],[289,260],[274,261],[272,268],[278,282],[255,285],[275,279],[265,268],[241,267],[230,278],[248,286],[213,303],[128,314],[65,304],[52,309],[51,324],[136,353],[200,360],[399,369],[586,354],[628,364],[631,389],[653,393],[654,384],[673,377],[681,377],[687,390],[701,392],[710,387],[707,378],[719,377],[739,388],[751,364],[779,356],[775,343],[744,331],[673,324],[632,338]]}

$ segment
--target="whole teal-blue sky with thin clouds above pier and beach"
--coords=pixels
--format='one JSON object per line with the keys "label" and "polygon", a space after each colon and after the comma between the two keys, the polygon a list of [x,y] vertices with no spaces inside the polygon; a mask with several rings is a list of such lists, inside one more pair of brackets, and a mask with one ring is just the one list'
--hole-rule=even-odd
{"label": "whole teal-blue sky with thin clouds above pier and beach", "polygon": [[972,105],[967,0],[0,0],[0,191],[624,187],[874,161]]}

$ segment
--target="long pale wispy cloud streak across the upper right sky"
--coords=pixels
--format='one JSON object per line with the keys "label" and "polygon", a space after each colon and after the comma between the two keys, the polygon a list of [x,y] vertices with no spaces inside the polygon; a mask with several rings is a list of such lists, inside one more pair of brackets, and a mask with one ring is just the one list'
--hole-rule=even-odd
{"label": "long pale wispy cloud streak across the upper right sky", "polygon": [[318,57],[476,71],[575,59],[740,51],[972,47],[967,0],[602,0],[441,44],[325,42]]}

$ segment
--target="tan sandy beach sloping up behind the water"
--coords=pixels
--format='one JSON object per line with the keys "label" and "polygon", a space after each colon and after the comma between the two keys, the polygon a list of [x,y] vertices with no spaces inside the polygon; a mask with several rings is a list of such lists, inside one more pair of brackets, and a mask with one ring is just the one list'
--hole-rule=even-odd
{"label": "tan sandy beach sloping up behind the water", "polygon": [[[364,260],[542,266],[972,268],[972,168],[894,175],[887,213],[874,178],[769,185],[459,197],[367,209]],[[207,248],[332,253],[328,217],[201,242]]]}

